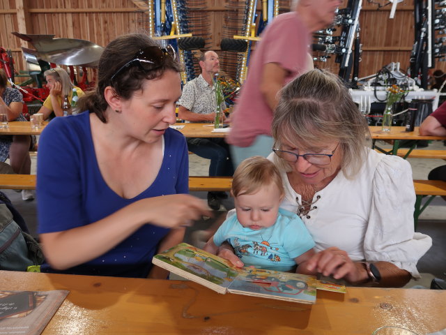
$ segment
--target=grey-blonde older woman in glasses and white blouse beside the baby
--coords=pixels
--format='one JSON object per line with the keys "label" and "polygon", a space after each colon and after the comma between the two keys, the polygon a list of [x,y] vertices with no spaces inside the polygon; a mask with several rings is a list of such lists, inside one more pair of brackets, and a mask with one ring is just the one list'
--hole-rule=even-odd
{"label": "grey-blonde older woman in glasses and white blouse beside the baby", "polygon": [[[420,277],[416,264],[431,238],[414,232],[410,165],[370,149],[367,123],[337,76],[312,70],[286,85],[272,135],[281,207],[302,218],[316,243],[309,271],[387,287]],[[220,255],[241,265],[227,249]]]}

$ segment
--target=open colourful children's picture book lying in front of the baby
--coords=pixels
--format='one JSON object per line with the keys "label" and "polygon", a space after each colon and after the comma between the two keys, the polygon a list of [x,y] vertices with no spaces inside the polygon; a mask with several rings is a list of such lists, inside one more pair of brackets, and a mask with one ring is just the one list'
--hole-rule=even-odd
{"label": "open colourful children's picture book lying in front of the baby", "polygon": [[228,260],[186,243],[155,255],[152,262],[222,294],[230,292],[314,304],[317,289],[346,292],[344,285],[319,282],[315,276],[252,267],[238,268]]}

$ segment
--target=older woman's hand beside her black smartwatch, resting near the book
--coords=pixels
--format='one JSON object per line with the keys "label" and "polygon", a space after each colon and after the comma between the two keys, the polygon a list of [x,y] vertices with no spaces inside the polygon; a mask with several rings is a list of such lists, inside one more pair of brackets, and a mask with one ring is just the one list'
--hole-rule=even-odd
{"label": "older woman's hand beside her black smartwatch, resting near the book", "polygon": [[316,253],[307,262],[307,270],[344,279],[348,283],[358,284],[368,281],[369,275],[362,263],[353,262],[346,251],[332,246]]}

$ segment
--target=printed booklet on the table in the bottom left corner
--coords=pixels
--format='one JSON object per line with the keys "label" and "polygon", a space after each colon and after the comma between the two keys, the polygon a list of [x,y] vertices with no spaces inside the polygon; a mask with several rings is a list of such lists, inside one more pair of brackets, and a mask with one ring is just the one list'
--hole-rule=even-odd
{"label": "printed booklet on the table in the bottom left corner", "polygon": [[0,290],[0,334],[42,333],[67,295],[66,290]]}

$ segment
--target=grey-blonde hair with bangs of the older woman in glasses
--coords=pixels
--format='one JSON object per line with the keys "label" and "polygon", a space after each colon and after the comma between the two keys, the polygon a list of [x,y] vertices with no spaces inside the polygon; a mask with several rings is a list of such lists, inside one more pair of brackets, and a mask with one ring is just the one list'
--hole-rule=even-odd
{"label": "grey-blonde hair with bangs of the older woman in glasses", "polygon": [[[370,146],[367,121],[357,109],[348,89],[337,75],[325,70],[310,70],[295,78],[280,92],[272,119],[275,147],[281,140],[298,140],[310,146],[315,140],[339,142],[346,177],[354,177],[366,160]],[[275,163],[290,171],[289,163],[277,156]]]}

